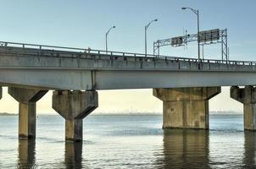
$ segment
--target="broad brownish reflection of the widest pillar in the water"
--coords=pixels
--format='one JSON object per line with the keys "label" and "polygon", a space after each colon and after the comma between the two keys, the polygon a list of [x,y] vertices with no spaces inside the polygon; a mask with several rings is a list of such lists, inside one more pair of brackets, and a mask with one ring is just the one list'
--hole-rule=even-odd
{"label": "broad brownish reflection of the widest pillar in the water", "polygon": [[[164,129],[164,168],[209,168],[209,131]],[[160,163],[162,163],[160,165]]]}

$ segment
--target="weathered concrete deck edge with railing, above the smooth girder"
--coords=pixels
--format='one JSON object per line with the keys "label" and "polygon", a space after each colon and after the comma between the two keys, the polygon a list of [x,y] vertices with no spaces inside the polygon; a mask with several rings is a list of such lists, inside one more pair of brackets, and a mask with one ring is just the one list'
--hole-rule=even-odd
{"label": "weathered concrete deck edge with railing, above the smooth girder", "polygon": [[[118,68],[118,69],[166,69],[166,70],[231,70],[231,71],[254,71],[256,62],[251,61],[221,61],[214,59],[195,59],[187,57],[153,56],[130,52],[105,52],[81,48],[61,46],[42,46],[33,44],[20,44],[1,42],[1,57],[33,57],[42,61],[58,59],[58,64],[52,62],[33,62],[14,64],[1,62],[0,66],[20,67],[45,67],[45,68]],[[5,59],[5,58],[4,58]],[[3,60],[3,59],[2,59]],[[70,60],[69,64],[62,61]],[[74,62],[75,61],[75,62]],[[93,64],[92,64],[93,62]],[[101,64],[99,64],[99,62]],[[31,62],[30,62],[31,63]],[[124,64],[125,63],[125,64]]]}

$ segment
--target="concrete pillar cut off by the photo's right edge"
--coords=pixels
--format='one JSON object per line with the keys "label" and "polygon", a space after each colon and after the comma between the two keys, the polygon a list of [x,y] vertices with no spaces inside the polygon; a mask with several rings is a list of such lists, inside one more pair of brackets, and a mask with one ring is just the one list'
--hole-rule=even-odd
{"label": "concrete pillar cut off by the photo's right edge", "polygon": [[239,88],[231,87],[231,98],[243,104],[244,129],[256,130],[256,88],[245,86]]}

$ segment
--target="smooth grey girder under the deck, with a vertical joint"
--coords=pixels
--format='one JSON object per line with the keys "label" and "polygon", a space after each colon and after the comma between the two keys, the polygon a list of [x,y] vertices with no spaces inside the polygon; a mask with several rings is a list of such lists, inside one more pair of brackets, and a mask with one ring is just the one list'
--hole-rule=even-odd
{"label": "smooth grey girder under the deck, with a vertical joint", "polygon": [[117,90],[256,84],[252,72],[120,71],[47,68],[0,68],[2,86],[45,90]]}

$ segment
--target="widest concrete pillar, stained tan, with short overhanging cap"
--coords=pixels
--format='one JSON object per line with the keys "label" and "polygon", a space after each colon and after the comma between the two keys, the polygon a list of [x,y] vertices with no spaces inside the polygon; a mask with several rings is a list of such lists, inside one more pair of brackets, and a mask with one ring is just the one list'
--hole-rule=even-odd
{"label": "widest concrete pillar, stained tan, with short overhanging cap", "polygon": [[209,99],[220,87],[153,89],[163,101],[163,128],[209,128]]}

